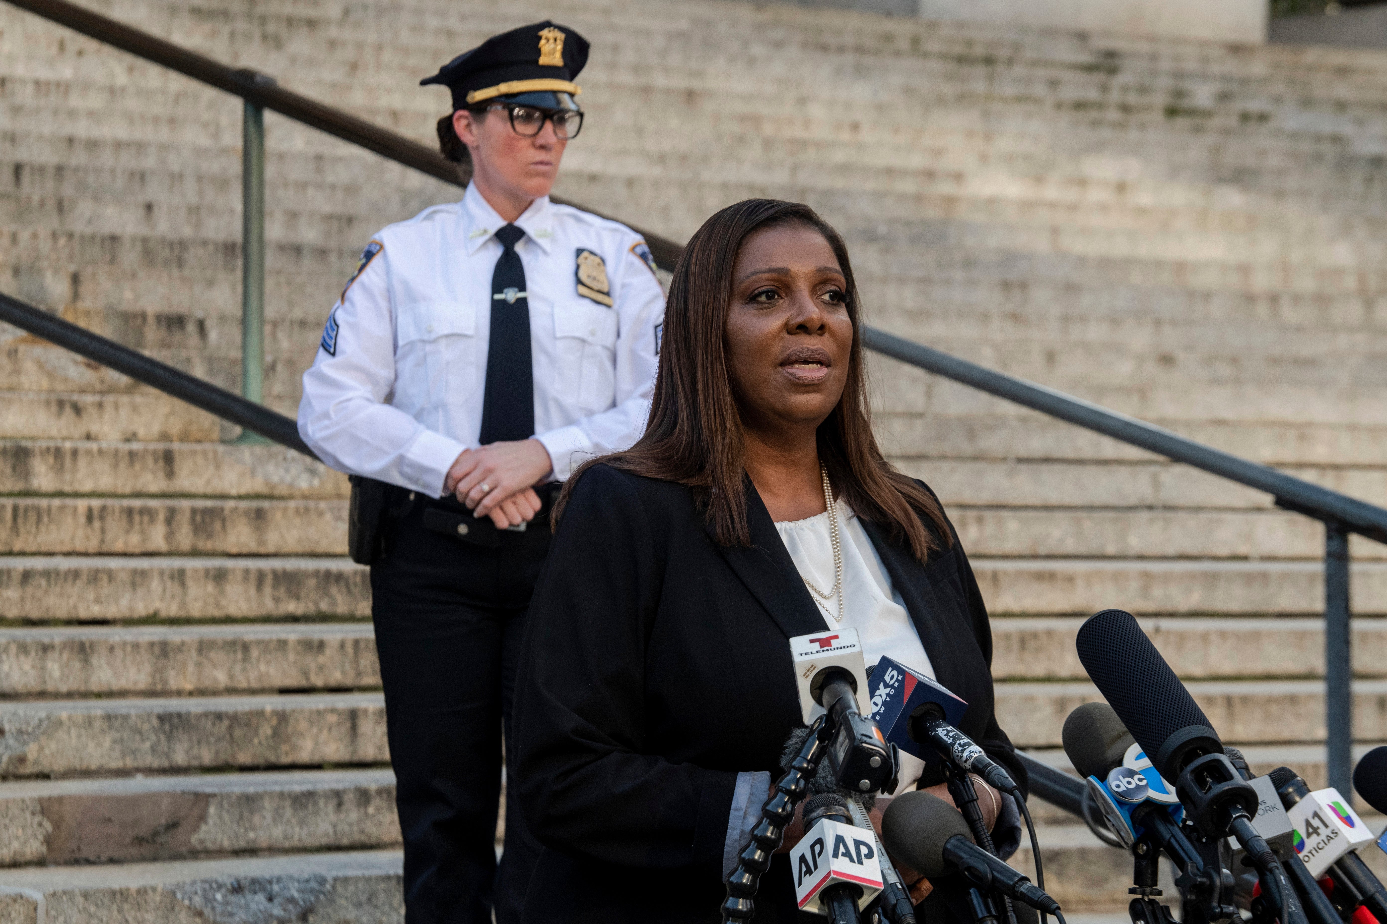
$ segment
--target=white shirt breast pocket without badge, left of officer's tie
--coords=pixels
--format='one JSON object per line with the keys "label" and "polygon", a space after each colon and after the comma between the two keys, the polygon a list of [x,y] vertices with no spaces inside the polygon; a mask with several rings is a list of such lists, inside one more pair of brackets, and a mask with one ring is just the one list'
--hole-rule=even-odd
{"label": "white shirt breast pocket without badge, left of officer's tie", "polygon": [[469,302],[415,302],[395,326],[395,392],[416,405],[452,405],[477,389],[477,309]]}

